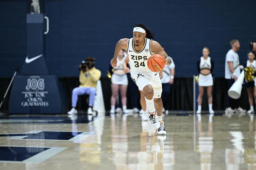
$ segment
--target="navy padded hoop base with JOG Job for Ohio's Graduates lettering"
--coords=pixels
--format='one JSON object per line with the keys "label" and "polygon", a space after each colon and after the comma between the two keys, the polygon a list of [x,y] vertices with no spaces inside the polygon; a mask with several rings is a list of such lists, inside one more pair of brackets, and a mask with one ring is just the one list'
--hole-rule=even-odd
{"label": "navy padded hoop base with JOG Job for Ohio's Graduates lettering", "polygon": [[9,113],[62,113],[55,75],[18,75],[14,79]]}

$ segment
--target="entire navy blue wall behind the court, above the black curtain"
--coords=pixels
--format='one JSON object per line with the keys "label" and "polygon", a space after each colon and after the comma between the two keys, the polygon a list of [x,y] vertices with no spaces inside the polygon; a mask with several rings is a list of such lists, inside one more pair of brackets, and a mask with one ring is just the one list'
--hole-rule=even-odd
{"label": "entire navy blue wall behind the court, above the black curtain", "polygon": [[[23,61],[26,55],[26,40],[12,38],[25,37],[26,9],[22,10],[23,1],[5,1],[6,4],[16,2],[17,17],[0,21],[1,32],[6,23],[9,23],[7,29],[10,30],[5,29],[8,33],[2,35],[5,42],[1,42],[0,66],[6,73],[1,72],[1,77],[11,76],[16,67],[13,60]],[[26,8],[26,4],[23,7]],[[140,22],[150,28],[155,34],[154,40],[173,58],[176,76],[197,74],[196,62],[202,56],[202,48],[208,46],[215,62],[214,74],[224,77],[225,55],[230,49],[230,40],[240,41],[238,54],[241,63],[246,61],[249,40],[256,40],[255,9],[254,0],[235,0],[232,4],[227,0],[149,0],[146,3],[135,0],[45,0],[45,13],[50,19],[50,31],[45,36],[46,63],[50,74],[78,76],[78,65],[85,57],[93,56],[96,67],[105,77],[117,41],[131,38],[134,24]],[[0,11],[5,15],[10,13],[7,8]],[[12,25],[21,34],[15,35]]]}

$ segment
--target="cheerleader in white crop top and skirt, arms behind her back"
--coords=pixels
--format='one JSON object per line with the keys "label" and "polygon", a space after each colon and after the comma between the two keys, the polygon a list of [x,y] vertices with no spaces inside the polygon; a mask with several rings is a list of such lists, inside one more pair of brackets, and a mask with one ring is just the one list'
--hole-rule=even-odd
{"label": "cheerleader in white crop top and skirt, arms behind her back", "polygon": [[203,90],[206,87],[207,89],[207,97],[208,97],[208,104],[209,104],[209,113],[214,114],[212,109],[213,106],[213,97],[211,95],[212,87],[213,87],[213,77],[211,75],[213,71],[213,61],[209,57],[210,50],[208,47],[203,48],[203,56],[197,62],[197,69],[199,72],[198,78],[198,110],[197,114],[201,113],[201,105],[202,105],[202,97],[203,97]]}

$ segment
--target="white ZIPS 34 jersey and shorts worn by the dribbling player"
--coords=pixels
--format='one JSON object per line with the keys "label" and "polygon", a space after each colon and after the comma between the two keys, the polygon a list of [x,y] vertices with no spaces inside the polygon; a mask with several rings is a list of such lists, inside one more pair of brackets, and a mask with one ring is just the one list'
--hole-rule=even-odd
{"label": "white ZIPS 34 jersey and shorts worn by the dribbling player", "polygon": [[162,94],[162,83],[159,73],[155,73],[147,67],[147,59],[155,52],[150,49],[151,39],[145,37],[145,43],[141,51],[134,48],[133,38],[127,44],[127,54],[130,61],[131,78],[137,84],[139,90],[150,84],[154,89],[154,98],[160,98]]}

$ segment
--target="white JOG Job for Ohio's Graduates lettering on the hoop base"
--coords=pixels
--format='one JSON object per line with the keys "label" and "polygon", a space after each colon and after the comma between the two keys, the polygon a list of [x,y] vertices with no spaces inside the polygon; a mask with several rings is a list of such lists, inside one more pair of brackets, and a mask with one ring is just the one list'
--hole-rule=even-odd
{"label": "white JOG Job for Ohio's Graduates lettering on the hoop base", "polygon": [[23,107],[26,106],[49,106],[49,102],[45,101],[45,96],[48,94],[44,91],[44,79],[40,76],[31,76],[27,79],[26,91],[23,91],[25,101],[21,102]]}

